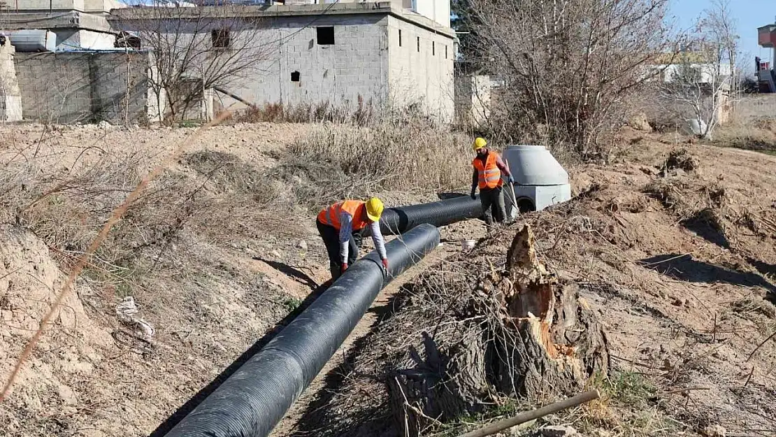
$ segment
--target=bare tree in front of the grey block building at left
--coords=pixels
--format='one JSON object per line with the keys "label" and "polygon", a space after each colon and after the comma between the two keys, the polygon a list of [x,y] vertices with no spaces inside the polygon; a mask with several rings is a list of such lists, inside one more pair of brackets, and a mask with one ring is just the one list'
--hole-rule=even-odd
{"label": "bare tree in front of the grey block building at left", "polygon": [[150,49],[149,82],[165,121],[183,120],[204,104],[214,89],[240,84],[265,68],[272,44],[261,20],[243,5],[150,5],[113,11],[128,33],[125,47]]}

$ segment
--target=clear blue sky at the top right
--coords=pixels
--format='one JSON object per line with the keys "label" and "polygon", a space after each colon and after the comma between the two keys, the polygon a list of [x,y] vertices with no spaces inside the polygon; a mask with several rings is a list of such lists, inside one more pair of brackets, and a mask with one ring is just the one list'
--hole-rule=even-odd
{"label": "clear blue sky at the top right", "polygon": [[[747,73],[754,71],[754,57],[771,61],[772,50],[757,44],[757,28],[776,21],[776,0],[729,0],[730,11],[738,23],[741,60]],[[670,0],[670,14],[682,29],[689,29],[712,5],[712,0]]]}

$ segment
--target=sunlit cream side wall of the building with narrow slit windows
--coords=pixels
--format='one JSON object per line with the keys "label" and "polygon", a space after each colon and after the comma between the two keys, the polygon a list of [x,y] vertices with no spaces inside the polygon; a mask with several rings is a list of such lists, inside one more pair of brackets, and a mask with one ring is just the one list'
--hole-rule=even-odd
{"label": "sunlit cream side wall of the building with narrow slit windows", "polygon": [[387,33],[391,104],[419,103],[429,115],[451,122],[455,115],[452,38],[393,16],[388,17]]}

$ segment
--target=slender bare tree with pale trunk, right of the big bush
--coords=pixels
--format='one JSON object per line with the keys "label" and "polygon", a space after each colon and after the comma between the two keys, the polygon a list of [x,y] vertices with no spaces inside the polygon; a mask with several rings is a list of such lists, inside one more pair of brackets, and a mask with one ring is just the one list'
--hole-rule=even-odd
{"label": "slender bare tree with pale trunk, right of the big bush", "polygon": [[663,87],[663,96],[675,103],[677,116],[689,117],[700,137],[712,137],[739,92],[735,29],[729,0],[713,0]]}

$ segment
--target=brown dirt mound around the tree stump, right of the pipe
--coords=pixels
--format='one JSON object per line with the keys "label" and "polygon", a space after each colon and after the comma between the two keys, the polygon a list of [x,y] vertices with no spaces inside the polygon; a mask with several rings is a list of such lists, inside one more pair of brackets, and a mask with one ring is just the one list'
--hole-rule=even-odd
{"label": "brown dirt mound around the tree stump, right of the pipe", "polygon": [[[602,401],[544,421],[636,435],[693,435],[716,425],[745,433],[761,428],[764,418],[776,425],[767,376],[776,357],[767,342],[776,313],[764,299],[776,292],[768,279],[776,272],[776,233],[769,227],[772,206],[757,206],[776,198],[774,160],[698,147],[702,173],[663,177],[641,170],[664,163],[668,153],[656,146],[630,164],[572,169],[576,186],[586,186],[575,199],[521,217],[466,256],[428,269],[404,288],[393,303],[397,310],[343,369],[341,387],[295,435],[396,435],[417,418],[427,432],[457,435],[473,421],[527,408],[530,397],[510,397],[498,384],[479,394],[466,390],[484,387],[481,374],[460,372],[462,364],[470,369],[504,357],[466,352],[484,350],[474,346],[493,337],[471,335],[469,327],[487,324],[487,317],[460,299],[478,291],[498,295],[478,278],[497,282],[523,224],[535,229],[536,254],[548,271],[560,283],[577,284],[605,324],[612,359],[608,377],[588,380],[605,393]],[[741,161],[747,172],[728,171]],[[554,400],[555,388],[546,386],[545,402]],[[462,392],[476,395],[452,396]],[[429,409],[428,396],[449,409]]]}

